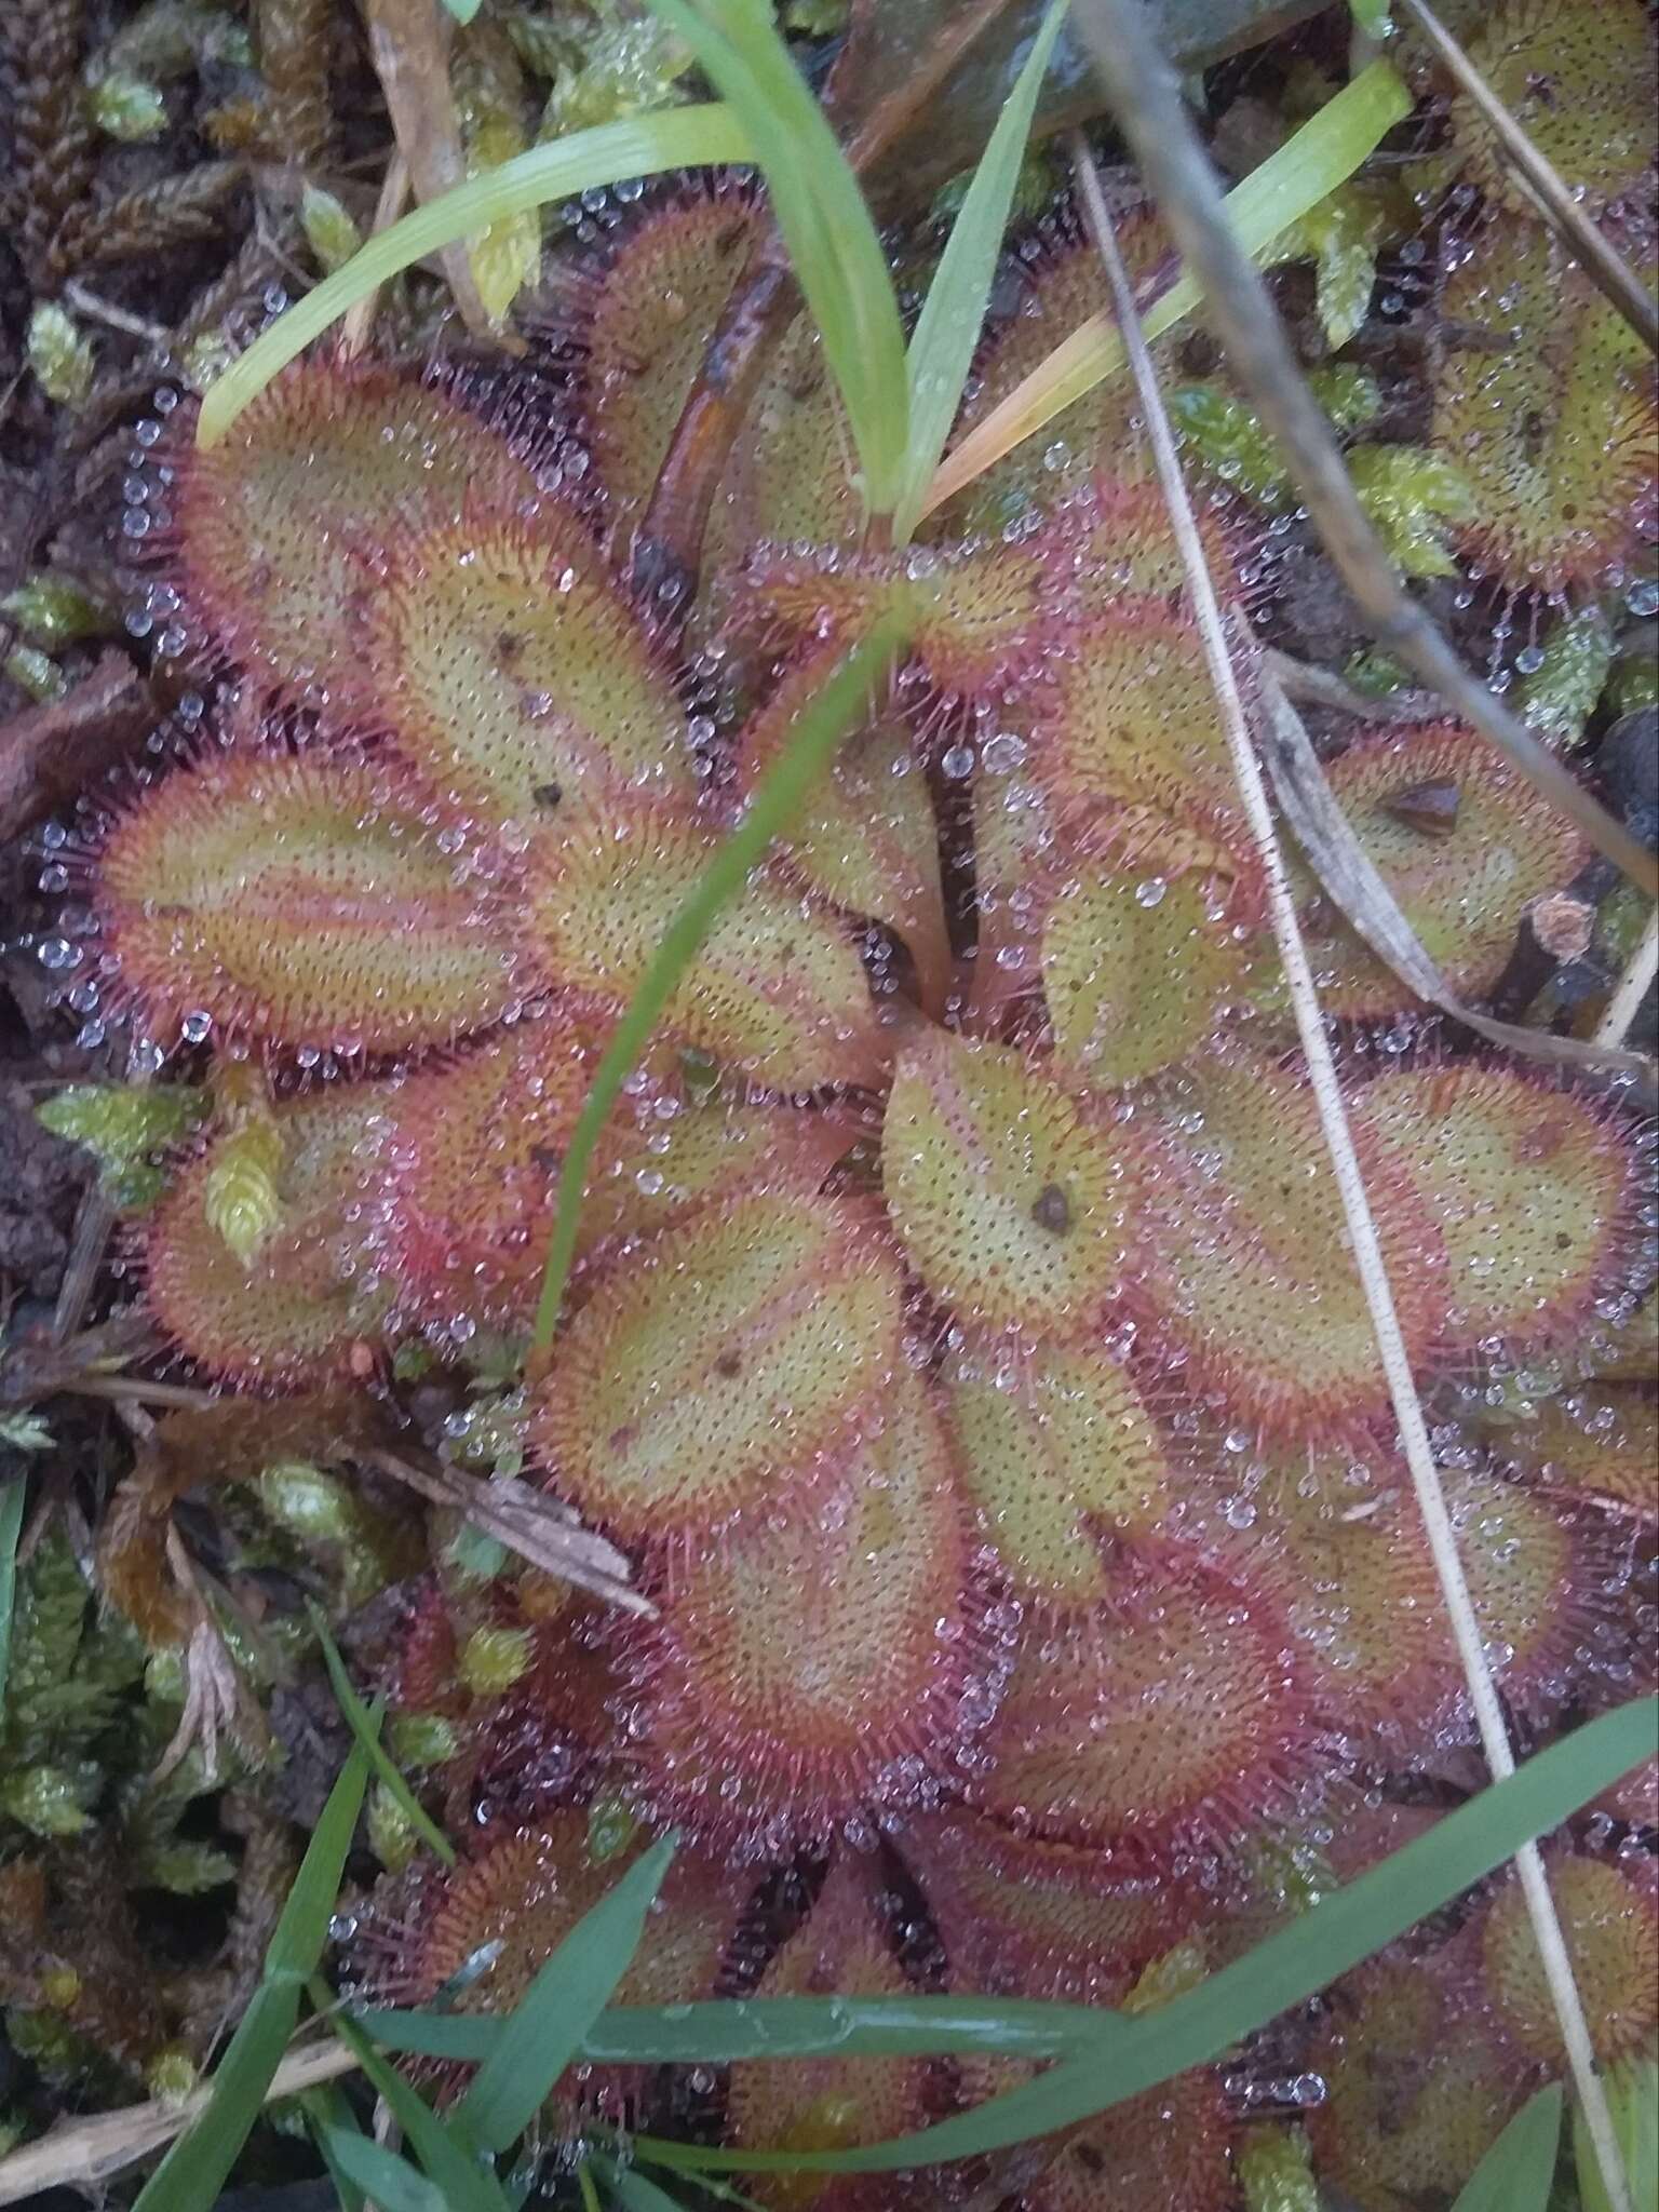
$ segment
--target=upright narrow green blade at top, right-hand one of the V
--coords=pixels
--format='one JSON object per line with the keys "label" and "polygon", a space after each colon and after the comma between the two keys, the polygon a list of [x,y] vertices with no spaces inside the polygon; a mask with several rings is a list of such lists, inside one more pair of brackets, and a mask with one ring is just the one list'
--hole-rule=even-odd
{"label": "upright narrow green blade at top, right-hand one of the V", "polygon": [[1031,115],[1064,20],[1066,0],[1051,0],[1026,64],[1004,100],[991,142],[973,170],[973,181],[951,226],[949,243],[940,254],[938,270],[933,270],[933,283],[927,288],[927,301],[909,341],[905,356],[909,445],[905,449],[905,489],[894,515],[894,535],[900,544],[916,529],[922,498],[962,403],[962,387],[973,365],[973,347],[980,341],[991,279],[1002,252],[1002,232],[1009,228],[1009,208],[1020,181]]}

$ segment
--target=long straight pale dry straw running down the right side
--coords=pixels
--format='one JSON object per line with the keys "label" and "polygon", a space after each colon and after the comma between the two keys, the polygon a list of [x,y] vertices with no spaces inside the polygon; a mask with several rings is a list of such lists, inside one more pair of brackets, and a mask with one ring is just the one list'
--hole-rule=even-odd
{"label": "long straight pale dry straw running down the right side", "polygon": [[[1124,7],[1124,0],[1079,0],[1079,13],[1091,27],[1091,35],[1097,35],[1099,46],[1108,55],[1135,49],[1137,38],[1135,29],[1130,29],[1128,7]],[[1113,106],[1117,108],[1119,122],[1130,137],[1139,135],[1130,115],[1135,115],[1137,122],[1155,122],[1148,117],[1146,106],[1139,104],[1144,86],[1137,82],[1137,64],[1144,69],[1146,58],[1135,55],[1124,73],[1108,69]],[[1161,80],[1164,71],[1155,51],[1150,55],[1150,66]],[[1234,776],[1239,781],[1239,794],[1243,799],[1250,834],[1267,878],[1267,909],[1272,916],[1274,938],[1279,942],[1279,956],[1285,967],[1285,980],[1290,984],[1296,1033],[1301,1037],[1307,1075],[1314,1086],[1318,1119],[1325,1133],[1325,1148],[1329,1152],[1336,1190],[1343,1201],[1349,1245],[1354,1250],[1360,1283],[1365,1285],[1365,1303],[1371,1314],[1371,1327],[1376,1332],[1376,1347],[1389,1385],[1394,1418],[1400,1427],[1400,1447],[1411,1471],[1411,1486],[1418,1498],[1418,1511],[1433,1553],[1440,1593],[1447,1604],[1451,1632],[1458,1644],[1458,1657],[1462,1659],[1464,1679],[1469,1683],[1469,1697],[1475,1710],[1475,1725],[1480,1730],[1486,1765],[1493,1776],[1502,1781],[1515,1772],[1515,1754],[1509,1743],[1504,1708],[1498,1699],[1498,1686],[1486,1661],[1486,1644],[1480,1632],[1480,1619],[1475,1615],[1469,1582],[1458,1555],[1458,1535],[1451,1524],[1451,1513],[1447,1511],[1444,1491],[1440,1489],[1440,1473],[1433,1464],[1429,1425],[1425,1420],[1422,1400],[1411,1374],[1411,1356],[1400,1329],[1400,1314],[1394,1303],[1394,1285],[1389,1283],[1387,1263],[1383,1259],[1383,1241],[1378,1237],[1376,1217],[1371,1214],[1371,1201],[1365,1190],[1365,1175],[1360,1170],[1358,1152],[1354,1150],[1354,1133],[1349,1128],[1343,1091],[1336,1077],[1336,1057],[1325,1033],[1318,987],[1314,984],[1307,947],[1296,920],[1296,900],[1290,889],[1285,854],[1279,843],[1272,807],[1267,803],[1267,785],[1250,743],[1250,728],[1245,723],[1243,699],[1239,695],[1239,679],[1225,637],[1221,606],[1217,604],[1214,584],[1210,582],[1203,544],[1199,540],[1199,526],[1181,478],[1181,462],[1175,451],[1175,431],[1170,429],[1170,418],[1157,385],[1157,372],[1152,369],[1152,356],[1146,347],[1146,336],[1141,334],[1141,323],[1135,312],[1135,292],[1128,281],[1128,270],[1124,268],[1124,257],[1117,250],[1113,221],[1106,210],[1106,197],[1099,188],[1099,177],[1095,175],[1095,161],[1082,137],[1075,144],[1075,166],[1084,217],[1095,246],[1099,248],[1102,261],[1106,263],[1115,312],[1124,330],[1124,347],[1146,409],[1152,456],[1157,460],[1159,482],[1170,509],[1170,522],[1175,524],[1175,535],[1181,546],[1181,564],[1186,568],[1192,611],[1203,637],[1210,679],[1221,706],[1221,721],[1228,737],[1228,752],[1232,754]],[[1566,2044],[1573,2084],[1595,2141],[1597,2166],[1601,2170],[1601,2183],[1608,2192],[1608,2203],[1613,2205],[1613,2212],[1632,2212],[1630,2188],[1626,2183],[1624,2159],[1619,2157],[1619,2143],[1613,2130],[1606,2086],[1597,2073],[1590,2028],[1584,2017],[1577,1982],[1573,1978],[1573,1962],[1562,1936],[1562,1922],[1555,1913],[1555,1900],[1544,1874],[1544,1860],[1540,1858],[1535,1843],[1528,1843],[1515,1854],[1515,1871],[1520,1874],[1533,1938],[1544,1962],[1544,1978],[1562,2026],[1562,2042]]]}

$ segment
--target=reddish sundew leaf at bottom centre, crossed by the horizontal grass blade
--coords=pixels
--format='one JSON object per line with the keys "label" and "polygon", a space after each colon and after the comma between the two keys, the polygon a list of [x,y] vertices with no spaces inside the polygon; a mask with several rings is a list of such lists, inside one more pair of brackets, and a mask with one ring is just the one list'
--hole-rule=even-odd
{"label": "reddish sundew leaf at bottom centre, crossed by the horizontal grass blade", "polygon": [[[900,1997],[905,1989],[872,1874],[843,1851],[754,1995]],[[929,2117],[929,2075],[927,2059],[745,2059],[732,2066],[728,2139],[743,2150],[849,2150],[909,2135]],[[768,2212],[880,2212],[891,2203],[883,2174],[745,2174],[743,2192]]]}

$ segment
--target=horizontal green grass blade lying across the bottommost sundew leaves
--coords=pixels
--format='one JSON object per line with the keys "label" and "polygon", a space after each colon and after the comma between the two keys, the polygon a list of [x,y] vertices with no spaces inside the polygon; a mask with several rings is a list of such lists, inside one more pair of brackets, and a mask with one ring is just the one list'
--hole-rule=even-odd
{"label": "horizontal green grass blade lying across the bottommost sundew leaves", "polygon": [[[504,2022],[476,2013],[363,2011],[356,2024],[409,2057],[487,2059]],[[582,2037],[595,2066],[726,2066],[732,2059],[1018,2055],[1057,2059],[1099,2048],[1115,2013],[1026,1997],[765,1997],[675,2006],[622,2004]]]}

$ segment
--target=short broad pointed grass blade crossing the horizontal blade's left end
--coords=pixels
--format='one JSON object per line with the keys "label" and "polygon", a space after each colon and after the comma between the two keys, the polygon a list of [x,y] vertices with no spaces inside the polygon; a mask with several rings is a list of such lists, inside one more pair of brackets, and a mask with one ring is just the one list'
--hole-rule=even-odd
{"label": "short broad pointed grass blade crossing the horizontal blade's left end", "polygon": [[504,2022],[502,2039],[456,2108],[458,2121],[487,2150],[507,2150],[529,2128],[582,2051],[582,2037],[639,1949],[646,1913],[672,1856],[672,1836],[653,1843],[577,1920]]}

